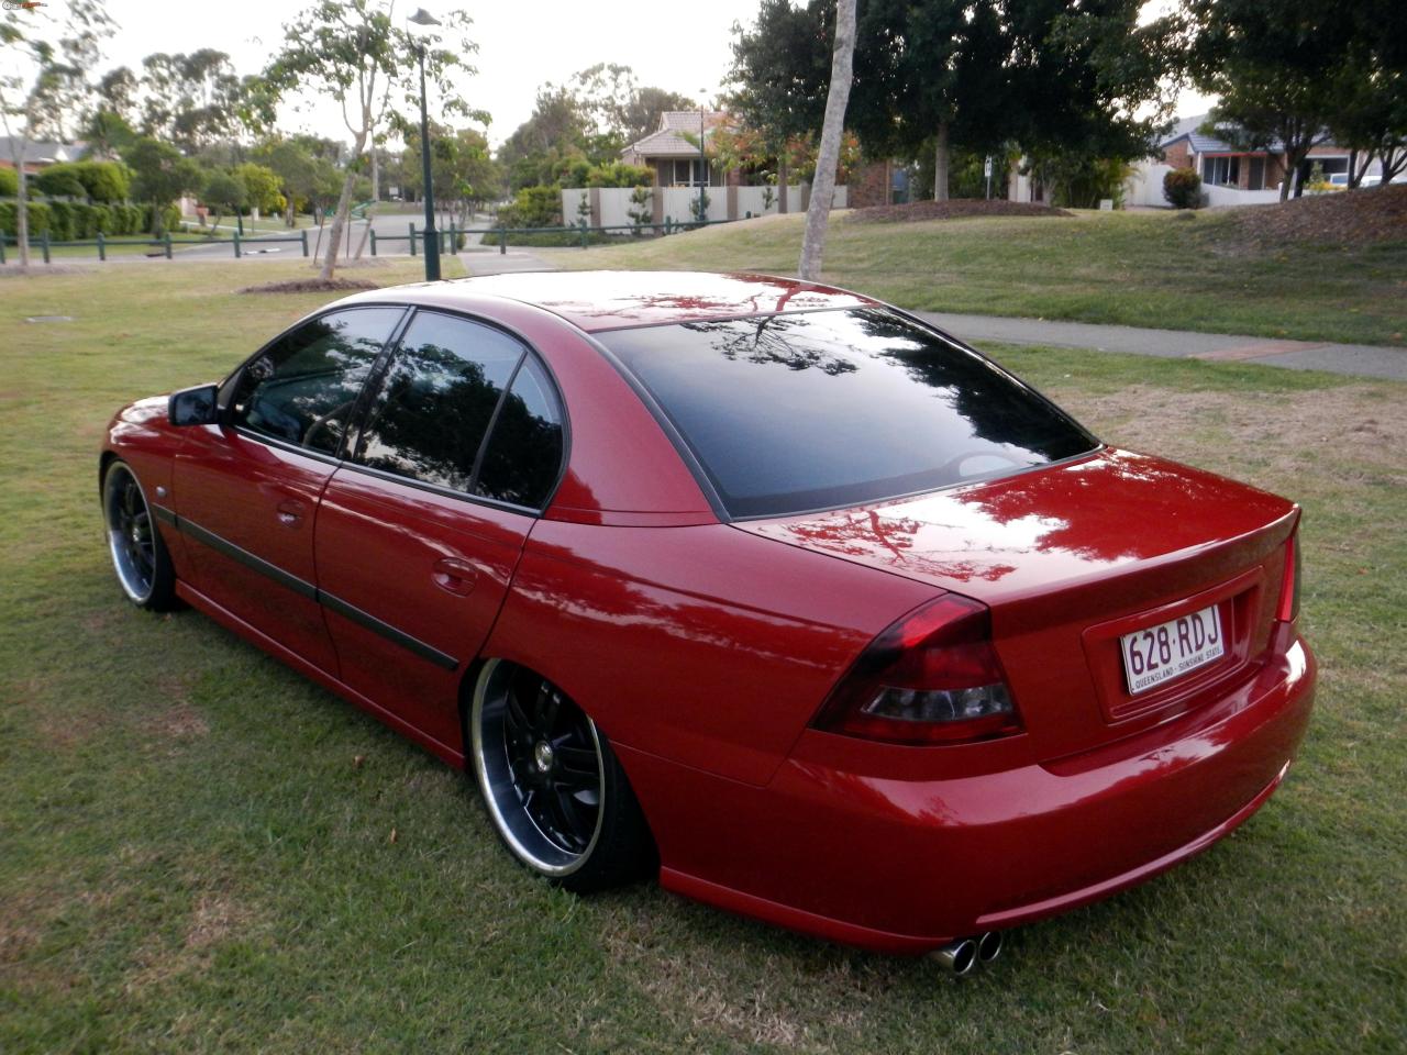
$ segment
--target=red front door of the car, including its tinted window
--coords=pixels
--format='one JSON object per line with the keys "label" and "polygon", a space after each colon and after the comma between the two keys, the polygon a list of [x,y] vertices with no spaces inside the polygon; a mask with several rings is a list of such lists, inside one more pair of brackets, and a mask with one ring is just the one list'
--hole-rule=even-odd
{"label": "red front door of the car, including its tinted window", "polygon": [[191,540],[191,585],[332,674],[314,519],[356,399],[404,315],[404,308],[335,311],[277,338],[225,383],[221,423],[190,429],[173,468],[173,508]]}

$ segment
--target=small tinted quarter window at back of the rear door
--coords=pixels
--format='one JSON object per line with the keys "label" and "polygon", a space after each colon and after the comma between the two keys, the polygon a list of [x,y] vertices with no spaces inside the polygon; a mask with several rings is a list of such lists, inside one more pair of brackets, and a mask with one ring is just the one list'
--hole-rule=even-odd
{"label": "small tinted quarter window at back of the rear door", "polygon": [[546,371],[523,362],[498,412],[478,470],[476,494],[535,509],[561,470],[561,408]]}

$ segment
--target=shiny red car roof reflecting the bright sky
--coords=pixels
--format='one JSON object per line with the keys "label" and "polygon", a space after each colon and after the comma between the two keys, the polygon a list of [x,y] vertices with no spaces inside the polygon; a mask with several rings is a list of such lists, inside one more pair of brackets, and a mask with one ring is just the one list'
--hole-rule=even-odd
{"label": "shiny red car roof reflecting the bright sky", "polygon": [[587,332],[877,304],[829,286],[743,271],[519,271],[400,286],[349,301],[384,302],[388,295],[443,308],[498,297],[543,308]]}

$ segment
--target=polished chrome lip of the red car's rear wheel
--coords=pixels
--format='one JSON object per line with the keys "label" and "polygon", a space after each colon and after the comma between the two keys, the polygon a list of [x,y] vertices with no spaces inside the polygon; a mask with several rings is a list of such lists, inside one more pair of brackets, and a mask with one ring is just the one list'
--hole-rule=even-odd
{"label": "polished chrome lip of the red car's rear wheel", "polygon": [[[530,814],[521,803],[511,802],[505,809],[504,803],[499,802],[499,796],[505,791],[509,795],[516,795],[516,791],[515,785],[512,785],[509,774],[507,772],[508,762],[507,754],[501,750],[501,737],[497,736],[499,726],[495,724],[494,730],[491,730],[494,734],[488,737],[484,736],[484,709],[488,705],[497,705],[498,701],[495,696],[498,692],[507,692],[507,682],[512,677],[512,664],[504,660],[490,660],[484,664],[484,670],[480,672],[478,681],[474,685],[474,702],[469,716],[471,740],[470,754],[474,758],[474,775],[477,776],[478,788],[484,795],[484,805],[488,807],[488,813],[494,820],[494,827],[498,830],[498,834],[508,844],[508,848],[514,852],[514,855],[542,875],[550,878],[568,876],[587,862],[587,858],[591,857],[591,851],[601,840],[601,826],[605,820],[606,793],[605,765],[601,758],[601,737],[597,733],[597,723],[592,722],[588,715],[582,715],[587,722],[587,730],[591,734],[591,746],[597,753],[598,809],[595,829],[592,830],[585,848],[580,852],[571,852],[559,847],[540,829],[537,829]],[[492,716],[490,717],[492,722]],[[501,723],[502,719],[498,717],[497,722]],[[499,754],[502,754],[502,758],[498,757]],[[508,788],[505,788],[505,781],[509,785]]]}

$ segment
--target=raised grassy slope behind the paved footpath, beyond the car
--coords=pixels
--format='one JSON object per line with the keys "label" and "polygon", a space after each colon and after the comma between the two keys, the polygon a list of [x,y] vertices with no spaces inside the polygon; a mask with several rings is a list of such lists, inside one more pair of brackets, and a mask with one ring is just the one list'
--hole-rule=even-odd
{"label": "raised grassy slope behind the paved footpath, beyond the car", "polygon": [[[802,224],[765,217],[554,263],[795,274]],[[1407,239],[1248,249],[1214,212],[920,224],[837,214],[825,260],[826,281],[905,308],[1407,346]]]}

